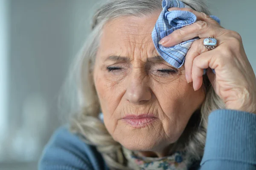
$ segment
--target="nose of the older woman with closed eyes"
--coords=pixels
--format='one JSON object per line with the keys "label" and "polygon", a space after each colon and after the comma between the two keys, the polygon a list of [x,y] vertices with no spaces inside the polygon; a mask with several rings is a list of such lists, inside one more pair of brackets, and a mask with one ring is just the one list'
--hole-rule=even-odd
{"label": "nose of the older woman with closed eyes", "polygon": [[151,89],[148,86],[148,76],[145,71],[133,71],[127,82],[125,99],[130,103],[138,104],[151,99]]}

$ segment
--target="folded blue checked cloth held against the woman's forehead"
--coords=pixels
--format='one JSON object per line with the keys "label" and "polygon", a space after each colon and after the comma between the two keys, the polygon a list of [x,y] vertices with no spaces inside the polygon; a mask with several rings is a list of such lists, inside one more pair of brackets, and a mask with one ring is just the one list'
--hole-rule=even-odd
{"label": "folded blue checked cloth held against the woman's forehead", "polygon": [[[167,35],[174,32],[176,29],[180,29],[184,26],[190,25],[196,21],[196,16],[192,12],[188,11],[168,11],[169,8],[178,7],[178,8],[191,8],[185,3],[179,0],[163,0],[162,2],[163,11],[157,19],[154,30],[152,32],[152,39],[157,52],[160,56],[169,64],[175,68],[180,68],[184,61],[189,48],[192,43],[199,39],[195,37],[191,40],[187,40],[180,44],[177,44],[172,47],[164,47],[158,42]],[[220,23],[218,17],[211,15],[214,20]],[[203,46],[203,44],[202,44]]]}

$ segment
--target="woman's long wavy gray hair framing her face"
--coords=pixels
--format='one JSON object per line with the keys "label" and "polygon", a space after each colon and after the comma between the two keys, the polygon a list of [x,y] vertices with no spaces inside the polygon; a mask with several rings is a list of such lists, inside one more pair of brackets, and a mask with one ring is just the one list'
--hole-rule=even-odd
{"label": "woman's long wavy gray hair framing her face", "polygon": [[[210,14],[204,0],[181,0],[198,12]],[[122,152],[121,145],[114,141],[105,125],[99,119],[100,104],[93,82],[93,65],[103,26],[121,16],[153,14],[162,10],[162,0],[108,0],[96,11],[93,17],[92,32],[79,52],[70,78],[76,78],[78,94],[77,114],[71,116],[70,130],[81,136],[87,144],[92,144],[102,154],[111,169],[130,169]],[[73,87],[72,87],[73,88]],[[194,112],[181,137],[171,149],[186,150],[189,158],[200,160],[204,152],[208,115],[214,109],[224,108],[224,103],[216,95],[207,76],[204,76],[206,98],[200,110]]]}

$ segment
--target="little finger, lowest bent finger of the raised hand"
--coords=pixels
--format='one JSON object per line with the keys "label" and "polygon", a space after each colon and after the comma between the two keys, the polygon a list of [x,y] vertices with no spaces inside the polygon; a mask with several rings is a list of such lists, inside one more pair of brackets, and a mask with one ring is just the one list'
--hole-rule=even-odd
{"label": "little finger, lowest bent finger of the raised hand", "polygon": [[[218,58],[216,54],[219,53],[220,52],[218,52],[217,49],[212,49],[198,55],[194,59],[192,65],[192,81],[195,91],[200,89],[200,87],[202,86],[204,69],[210,67],[211,69],[215,69],[216,71],[218,64],[215,62],[215,59]],[[213,80],[212,77],[210,77],[210,79]]]}

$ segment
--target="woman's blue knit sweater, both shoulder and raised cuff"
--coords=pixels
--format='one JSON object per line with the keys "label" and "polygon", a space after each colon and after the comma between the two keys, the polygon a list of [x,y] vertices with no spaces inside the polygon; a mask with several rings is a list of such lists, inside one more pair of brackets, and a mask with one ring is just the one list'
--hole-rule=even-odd
{"label": "woman's blue knit sweater, both shoulder and raised cuff", "polygon": [[[39,170],[108,170],[95,147],[67,127],[46,145]],[[256,114],[219,109],[209,115],[204,156],[196,170],[256,170]]]}

